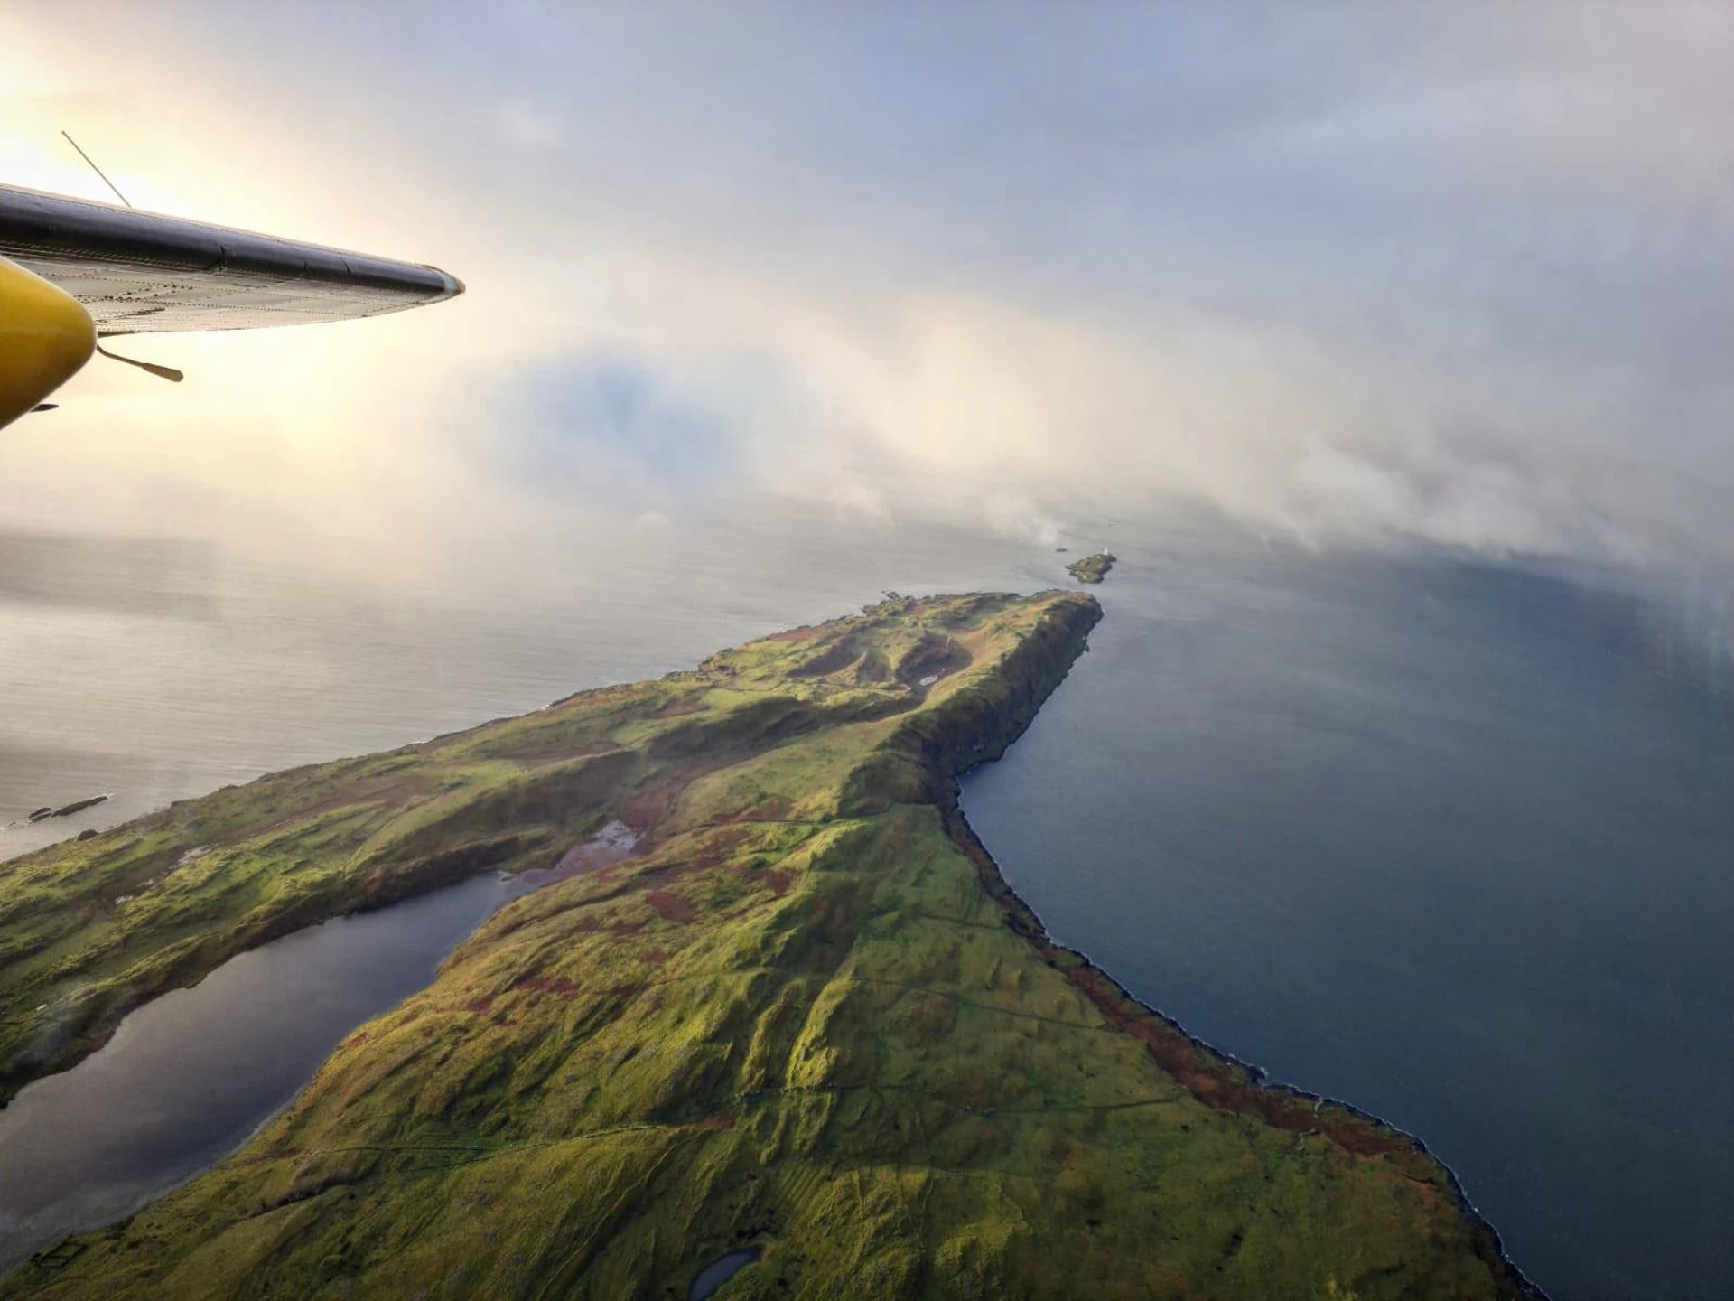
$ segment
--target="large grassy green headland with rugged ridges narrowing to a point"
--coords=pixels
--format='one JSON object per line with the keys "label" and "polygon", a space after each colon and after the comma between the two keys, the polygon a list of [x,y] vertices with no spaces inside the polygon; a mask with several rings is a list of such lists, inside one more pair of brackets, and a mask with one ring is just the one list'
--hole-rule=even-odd
{"label": "large grassy green headland with rugged ridges narrowing to a point", "polygon": [[1531,1296],[1415,1140],[1136,1003],[969,831],[1099,618],[898,597],[0,864],[0,1096],[271,937],[555,878],[0,1298]]}

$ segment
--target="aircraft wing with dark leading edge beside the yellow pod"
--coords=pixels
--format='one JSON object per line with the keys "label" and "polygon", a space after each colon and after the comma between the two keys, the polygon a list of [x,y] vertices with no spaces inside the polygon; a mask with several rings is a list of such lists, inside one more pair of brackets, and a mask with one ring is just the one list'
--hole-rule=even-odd
{"label": "aircraft wing with dark leading edge beside the yellow pod", "polygon": [[78,298],[97,335],[383,316],[463,293],[437,267],[0,186],[0,257]]}

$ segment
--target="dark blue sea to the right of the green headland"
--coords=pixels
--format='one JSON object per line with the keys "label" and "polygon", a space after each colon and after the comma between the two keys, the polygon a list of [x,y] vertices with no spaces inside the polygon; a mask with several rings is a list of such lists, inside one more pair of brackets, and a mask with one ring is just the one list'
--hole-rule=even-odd
{"label": "dark blue sea to the right of the green headland", "polygon": [[[1640,602],[1117,548],[969,820],[1190,1030],[1410,1129],[1561,1301],[1734,1296],[1734,713]],[[1720,683],[1720,685],[1718,685]]]}

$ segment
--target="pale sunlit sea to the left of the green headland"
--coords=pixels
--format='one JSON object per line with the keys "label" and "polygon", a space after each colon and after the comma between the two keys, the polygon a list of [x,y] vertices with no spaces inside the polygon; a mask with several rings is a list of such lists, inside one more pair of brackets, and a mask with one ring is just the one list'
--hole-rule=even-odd
{"label": "pale sunlit sea to the left of the green headland", "polygon": [[[517,569],[380,592],[184,546],[0,533],[0,857],[262,772],[692,668],[888,588],[1063,583],[1059,559],[959,529],[754,505],[628,520]],[[97,793],[114,800],[24,820]]]}

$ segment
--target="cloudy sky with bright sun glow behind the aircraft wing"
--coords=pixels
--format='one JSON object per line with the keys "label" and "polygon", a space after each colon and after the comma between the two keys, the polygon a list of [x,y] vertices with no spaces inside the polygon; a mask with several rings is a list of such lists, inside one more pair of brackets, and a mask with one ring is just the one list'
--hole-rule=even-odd
{"label": "cloudy sky with bright sun glow behind the aircraft wing", "polygon": [[388,581],[798,500],[1734,566],[1722,3],[0,0],[0,179],[442,265],[153,337],[0,529]]}

